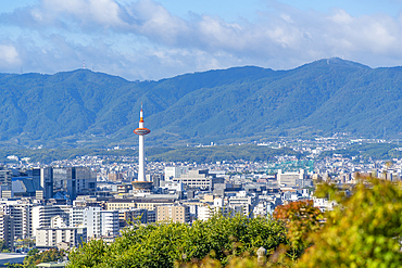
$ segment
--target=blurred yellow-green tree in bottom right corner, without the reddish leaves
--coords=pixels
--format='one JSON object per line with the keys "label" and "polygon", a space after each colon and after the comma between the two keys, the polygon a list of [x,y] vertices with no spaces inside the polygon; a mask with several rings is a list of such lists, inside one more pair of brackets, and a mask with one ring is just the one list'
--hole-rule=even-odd
{"label": "blurred yellow-green tree in bottom right corner, without the reddish leaves", "polygon": [[401,267],[401,183],[362,178],[350,196],[322,188],[339,206],[326,214],[298,267]]}

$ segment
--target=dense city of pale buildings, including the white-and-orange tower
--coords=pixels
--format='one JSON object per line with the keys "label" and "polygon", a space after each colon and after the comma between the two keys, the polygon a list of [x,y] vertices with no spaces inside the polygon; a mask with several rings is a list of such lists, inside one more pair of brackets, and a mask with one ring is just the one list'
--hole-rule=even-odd
{"label": "dense city of pale buildings, including the white-and-orange tower", "polygon": [[[139,136],[139,150],[133,152],[138,155],[84,155],[48,165],[8,156],[10,162],[0,169],[0,239],[4,245],[23,257],[33,246],[68,251],[91,240],[112,243],[130,222],[191,225],[217,214],[269,218],[276,207],[298,201],[312,201],[324,213],[337,203],[315,196],[316,184],[328,182],[351,191],[362,176],[400,181],[402,175],[402,158],[390,163],[336,153],[318,157],[347,143],[386,142],[347,142],[344,137],[257,144],[289,146],[304,153],[304,158],[277,155],[269,163],[147,163],[145,135],[150,131],[141,109],[139,128],[134,131]],[[23,241],[32,241],[30,246]]]}

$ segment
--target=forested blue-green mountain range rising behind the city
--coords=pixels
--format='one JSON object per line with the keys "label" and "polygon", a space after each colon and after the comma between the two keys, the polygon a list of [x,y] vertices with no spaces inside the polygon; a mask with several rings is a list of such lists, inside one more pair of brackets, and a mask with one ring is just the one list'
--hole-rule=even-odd
{"label": "forested blue-green mountain range rising behind the city", "polygon": [[0,74],[0,142],[136,145],[143,103],[149,144],[230,143],[349,132],[402,135],[402,67],[329,59],[290,71],[247,66],[160,81],[88,69]]}

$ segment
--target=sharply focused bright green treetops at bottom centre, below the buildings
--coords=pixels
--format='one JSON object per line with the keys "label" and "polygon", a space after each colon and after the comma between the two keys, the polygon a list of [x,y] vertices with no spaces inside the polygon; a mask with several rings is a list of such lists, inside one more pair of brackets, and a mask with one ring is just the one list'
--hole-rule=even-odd
{"label": "sharply focused bright green treetops at bottom centre, below the buildings", "polygon": [[236,256],[274,252],[287,244],[285,226],[274,219],[216,215],[208,221],[135,225],[110,245],[91,241],[70,254],[68,267],[174,267],[205,256],[226,265]]}

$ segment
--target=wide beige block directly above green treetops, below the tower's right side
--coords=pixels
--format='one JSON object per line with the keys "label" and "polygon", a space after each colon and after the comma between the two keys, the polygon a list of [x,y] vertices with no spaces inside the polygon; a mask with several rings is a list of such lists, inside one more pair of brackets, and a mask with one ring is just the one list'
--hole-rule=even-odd
{"label": "wide beige block directly above green treetops, below the tower's right side", "polygon": [[165,205],[156,207],[156,221],[189,222],[190,207],[186,205]]}

